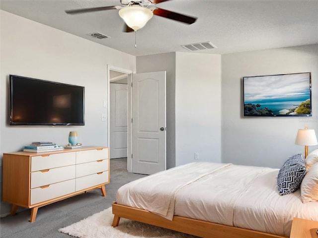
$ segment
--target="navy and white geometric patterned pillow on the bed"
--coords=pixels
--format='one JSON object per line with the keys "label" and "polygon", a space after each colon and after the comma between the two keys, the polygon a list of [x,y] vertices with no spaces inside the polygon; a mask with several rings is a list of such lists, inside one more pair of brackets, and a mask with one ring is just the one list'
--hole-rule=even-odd
{"label": "navy and white geometric patterned pillow on the bed", "polygon": [[290,157],[279,170],[277,177],[280,195],[295,192],[306,175],[306,166],[301,154]]}

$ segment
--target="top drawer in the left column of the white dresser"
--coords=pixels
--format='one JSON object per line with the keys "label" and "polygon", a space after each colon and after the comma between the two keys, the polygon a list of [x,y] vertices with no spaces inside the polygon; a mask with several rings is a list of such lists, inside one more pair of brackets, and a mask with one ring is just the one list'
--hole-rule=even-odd
{"label": "top drawer in the left column of the white dresser", "polygon": [[32,156],[31,172],[75,165],[76,152],[51,154],[48,156]]}

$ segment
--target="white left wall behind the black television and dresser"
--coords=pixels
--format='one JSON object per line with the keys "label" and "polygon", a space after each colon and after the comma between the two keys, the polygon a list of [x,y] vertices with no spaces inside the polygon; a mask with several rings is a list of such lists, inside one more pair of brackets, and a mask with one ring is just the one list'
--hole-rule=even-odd
{"label": "white left wall behind the black television and dresser", "polygon": [[[107,64],[136,71],[136,57],[2,10],[0,22],[1,166],[2,153],[37,140],[66,145],[71,130],[78,131],[83,145],[106,146],[107,122],[101,114],[107,113]],[[9,126],[9,74],[84,86],[85,125]],[[9,204],[1,202],[1,215],[9,211]]]}

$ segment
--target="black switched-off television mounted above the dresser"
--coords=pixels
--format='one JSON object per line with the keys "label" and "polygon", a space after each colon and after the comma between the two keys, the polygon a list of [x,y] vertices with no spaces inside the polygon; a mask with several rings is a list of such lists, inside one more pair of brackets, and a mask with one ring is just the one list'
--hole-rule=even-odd
{"label": "black switched-off television mounted above the dresser", "polygon": [[84,87],[9,75],[10,125],[84,125]]}

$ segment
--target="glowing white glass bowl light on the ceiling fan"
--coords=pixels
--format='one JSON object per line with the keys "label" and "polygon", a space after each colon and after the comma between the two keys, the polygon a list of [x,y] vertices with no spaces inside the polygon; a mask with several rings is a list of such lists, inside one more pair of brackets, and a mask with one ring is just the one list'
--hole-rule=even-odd
{"label": "glowing white glass bowl light on the ceiling fan", "polygon": [[124,19],[127,26],[134,31],[143,28],[154,15],[149,8],[138,5],[126,6],[121,8],[118,13]]}

